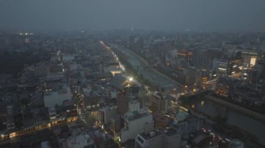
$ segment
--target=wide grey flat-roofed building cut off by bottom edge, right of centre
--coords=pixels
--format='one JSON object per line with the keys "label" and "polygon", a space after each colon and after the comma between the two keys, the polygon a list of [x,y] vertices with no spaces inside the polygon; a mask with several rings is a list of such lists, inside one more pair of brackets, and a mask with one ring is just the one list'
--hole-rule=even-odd
{"label": "wide grey flat-roofed building cut off by bottom edge, right of centre", "polygon": [[165,131],[151,131],[139,133],[135,138],[135,148],[179,148],[181,147],[181,131],[167,129]]}

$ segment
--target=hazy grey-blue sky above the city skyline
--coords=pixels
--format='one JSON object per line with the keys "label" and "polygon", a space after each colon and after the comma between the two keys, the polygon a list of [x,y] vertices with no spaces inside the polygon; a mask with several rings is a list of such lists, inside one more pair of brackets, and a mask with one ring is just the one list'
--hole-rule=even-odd
{"label": "hazy grey-blue sky above the city skyline", "polygon": [[265,31],[265,0],[0,0],[0,29]]}

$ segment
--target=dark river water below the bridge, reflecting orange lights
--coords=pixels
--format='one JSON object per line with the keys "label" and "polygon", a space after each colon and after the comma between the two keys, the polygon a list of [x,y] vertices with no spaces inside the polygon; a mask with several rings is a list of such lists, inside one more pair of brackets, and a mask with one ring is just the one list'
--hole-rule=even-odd
{"label": "dark river water below the bridge, reflecting orange lights", "polygon": [[240,129],[248,131],[248,133],[257,137],[259,143],[265,145],[265,124],[263,122],[259,122],[225,106],[220,106],[209,99],[193,98],[189,103],[185,104],[211,117],[217,115],[227,117],[227,124],[238,126]]}

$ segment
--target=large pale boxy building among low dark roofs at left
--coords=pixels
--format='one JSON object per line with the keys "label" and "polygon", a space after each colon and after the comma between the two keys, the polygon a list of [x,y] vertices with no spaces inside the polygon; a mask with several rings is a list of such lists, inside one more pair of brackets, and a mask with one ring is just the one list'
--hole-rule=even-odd
{"label": "large pale boxy building among low dark roofs at left", "polygon": [[61,85],[60,88],[47,90],[44,93],[44,105],[47,108],[63,105],[63,101],[71,99],[69,85]]}

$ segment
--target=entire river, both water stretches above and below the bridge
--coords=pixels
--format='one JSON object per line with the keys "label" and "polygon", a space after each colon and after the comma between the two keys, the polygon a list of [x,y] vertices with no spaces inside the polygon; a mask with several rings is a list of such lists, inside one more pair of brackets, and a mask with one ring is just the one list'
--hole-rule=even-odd
{"label": "entire river, both water stretches above and below the bridge", "polygon": [[[156,85],[160,85],[166,90],[172,90],[176,88],[177,84],[174,81],[170,81],[166,79],[164,76],[161,76],[157,72],[154,72],[150,67],[146,67],[144,63],[142,63],[129,49],[118,47],[114,45],[116,49],[120,50],[128,56],[128,62],[133,66],[137,67],[137,71],[140,74],[143,74],[144,79],[149,79],[151,83],[155,83]],[[234,110],[231,110],[225,106],[220,106],[219,104],[204,98],[193,99],[191,101],[190,107],[193,107],[200,112],[209,115],[211,117],[215,117],[216,115],[221,115],[222,117],[227,117],[227,124],[238,126],[248,133],[255,135],[257,140],[262,145],[265,145],[265,124],[259,122],[257,120],[252,119],[242,113],[238,113]]]}

